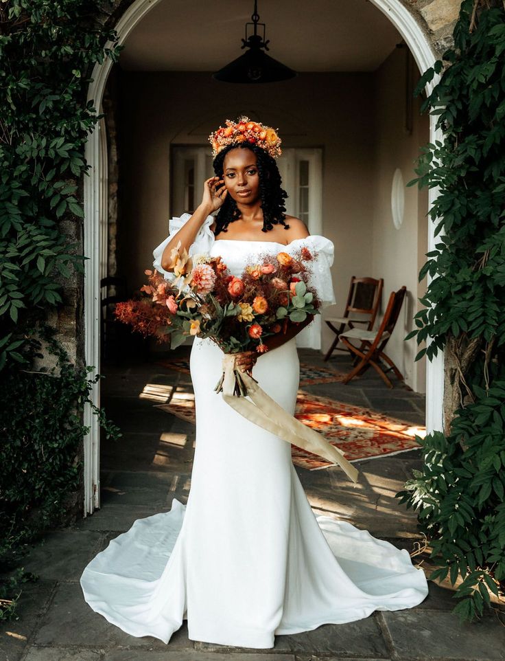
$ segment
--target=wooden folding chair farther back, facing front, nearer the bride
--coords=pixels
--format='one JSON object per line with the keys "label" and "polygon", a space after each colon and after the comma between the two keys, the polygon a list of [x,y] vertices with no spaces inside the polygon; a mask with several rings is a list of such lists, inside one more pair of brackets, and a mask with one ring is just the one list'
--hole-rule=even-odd
{"label": "wooden folding chair farther back, facing front, nearer the bride", "polygon": [[[347,351],[347,348],[337,347],[340,333],[346,326],[354,328],[354,324],[366,324],[366,330],[371,330],[375,323],[377,310],[382,295],[382,287],[384,280],[379,278],[356,278],[352,276],[351,284],[349,285],[349,293],[347,295],[347,303],[345,304],[344,315],[342,317],[326,317],[325,322],[329,328],[336,334],[330,348],[328,349],[325,360],[328,360],[333,351]],[[364,315],[362,318],[350,317],[349,315]],[[333,326],[338,324],[338,328]]]}

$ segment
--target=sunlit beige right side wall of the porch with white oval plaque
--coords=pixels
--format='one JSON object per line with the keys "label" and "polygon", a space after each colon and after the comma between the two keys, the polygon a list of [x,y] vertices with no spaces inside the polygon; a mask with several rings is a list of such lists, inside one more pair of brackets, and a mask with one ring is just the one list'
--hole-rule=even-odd
{"label": "sunlit beige right side wall of the porch with white oval plaque", "polygon": [[[425,392],[425,358],[414,362],[419,348],[416,339],[404,341],[414,328],[413,317],[421,307],[419,297],[425,292],[425,280],[418,273],[427,252],[427,193],[417,186],[405,188],[405,211],[399,229],[393,225],[391,188],[395,170],[401,170],[405,184],[416,175],[415,159],[419,146],[428,142],[427,115],[419,114],[421,100],[416,98],[410,113],[412,130],[406,128],[406,67],[414,83],[419,79],[406,49],[398,48],[375,71],[375,174],[373,194],[373,273],[384,278],[384,295],[379,321],[390,292],[407,287],[406,299],[386,352],[417,392]],[[394,377],[393,377],[394,379]]]}

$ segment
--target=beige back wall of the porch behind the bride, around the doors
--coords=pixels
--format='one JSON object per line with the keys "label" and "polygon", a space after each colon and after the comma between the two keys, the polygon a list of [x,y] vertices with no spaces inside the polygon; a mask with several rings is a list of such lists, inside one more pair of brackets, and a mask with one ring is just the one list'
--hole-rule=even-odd
{"label": "beige back wall of the porch behind the bride, around the doors", "polygon": [[[119,269],[130,291],[141,287],[152,249],[167,235],[169,148],[208,145],[209,133],[239,114],[279,128],[283,146],[323,149],[322,234],[335,243],[333,282],[338,310],[349,278],[372,260],[370,195],[373,135],[371,74],[301,74],[279,85],[231,85],[210,74],[124,72],[124,214]],[[351,125],[350,125],[351,117]],[[210,146],[209,146],[210,150]],[[323,324],[322,349],[333,334]]]}

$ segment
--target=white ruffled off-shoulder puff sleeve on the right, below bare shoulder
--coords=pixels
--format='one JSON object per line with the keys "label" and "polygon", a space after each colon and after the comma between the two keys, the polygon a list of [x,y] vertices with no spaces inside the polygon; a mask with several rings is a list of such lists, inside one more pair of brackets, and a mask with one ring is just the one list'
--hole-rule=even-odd
{"label": "white ruffled off-shoulder puff sleeve on the right, below bare shoulder", "polygon": [[298,251],[306,246],[315,255],[311,262],[312,272],[309,276],[309,285],[314,287],[321,300],[321,310],[336,303],[331,278],[331,265],[335,247],[333,242],[325,236],[311,234],[305,238],[297,238],[287,245],[287,252]]}

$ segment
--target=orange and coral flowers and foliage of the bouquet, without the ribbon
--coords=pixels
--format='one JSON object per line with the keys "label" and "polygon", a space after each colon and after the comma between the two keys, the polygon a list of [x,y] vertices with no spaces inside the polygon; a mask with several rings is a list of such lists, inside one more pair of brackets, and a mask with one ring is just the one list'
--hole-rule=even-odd
{"label": "orange and coral flowers and foliage of the bouquet, without the ribbon", "polygon": [[[179,243],[171,254],[173,282],[158,271],[145,271],[148,284],[141,288],[143,300],[118,303],[115,315],[143,335],[154,335],[158,341],[169,338],[171,348],[196,335],[209,337],[226,354],[266,352],[265,337],[318,313],[320,300],[307,286],[313,259],[307,247],[295,256],[282,251],[268,254],[246,265],[236,277],[221,257],[189,257]],[[239,374],[236,385],[244,394]]]}

